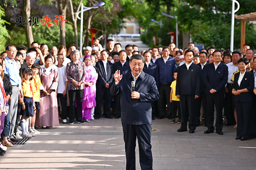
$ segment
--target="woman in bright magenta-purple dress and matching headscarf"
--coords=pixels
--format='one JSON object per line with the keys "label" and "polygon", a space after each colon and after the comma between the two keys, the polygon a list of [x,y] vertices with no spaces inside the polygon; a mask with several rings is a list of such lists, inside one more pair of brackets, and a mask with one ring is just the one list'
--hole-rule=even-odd
{"label": "woman in bright magenta-purple dress and matching headscarf", "polygon": [[92,108],[96,106],[95,100],[95,93],[93,85],[96,84],[97,80],[97,72],[93,66],[91,66],[91,56],[85,55],[84,56],[84,63],[85,63],[85,80],[84,80],[84,97],[83,97],[83,104],[82,104],[82,114],[83,120],[86,122],[90,122],[92,115]]}

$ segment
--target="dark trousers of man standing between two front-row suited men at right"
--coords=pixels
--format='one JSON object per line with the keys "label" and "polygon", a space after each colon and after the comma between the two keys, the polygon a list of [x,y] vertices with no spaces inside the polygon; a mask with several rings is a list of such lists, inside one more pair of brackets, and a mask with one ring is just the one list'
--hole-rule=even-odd
{"label": "dark trousers of man standing between two front-row suited men at right", "polygon": [[201,103],[203,102],[204,108],[204,124],[207,125],[207,97],[205,92],[201,92],[200,96],[196,98],[196,125],[200,125],[200,115],[201,115]]}

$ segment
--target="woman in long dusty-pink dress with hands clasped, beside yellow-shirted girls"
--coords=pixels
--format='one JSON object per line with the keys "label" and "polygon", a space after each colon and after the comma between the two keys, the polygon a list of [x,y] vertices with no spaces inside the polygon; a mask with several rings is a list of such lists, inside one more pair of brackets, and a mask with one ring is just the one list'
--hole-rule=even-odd
{"label": "woman in long dusty-pink dress with hands clasped, beside yellow-shirted girls", "polygon": [[52,55],[44,58],[45,66],[39,73],[41,79],[41,108],[36,111],[36,123],[38,128],[46,126],[52,129],[53,126],[60,126],[57,103],[57,87],[59,81],[58,70],[52,67],[54,59]]}

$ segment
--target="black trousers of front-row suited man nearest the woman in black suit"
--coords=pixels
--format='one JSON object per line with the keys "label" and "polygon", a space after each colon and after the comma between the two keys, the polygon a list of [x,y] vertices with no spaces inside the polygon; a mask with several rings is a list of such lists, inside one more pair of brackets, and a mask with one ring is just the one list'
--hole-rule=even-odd
{"label": "black trousers of front-row suited man nearest the woman in black suit", "polygon": [[213,127],[214,105],[216,108],[216,123],[215,123],[216,131],[222,130],[223,128],[222,109],[224,105],[224,96],[222,95],[207,94],[207,108],[208,108],[207,128],[210,130],[214,130],[214,127]]}

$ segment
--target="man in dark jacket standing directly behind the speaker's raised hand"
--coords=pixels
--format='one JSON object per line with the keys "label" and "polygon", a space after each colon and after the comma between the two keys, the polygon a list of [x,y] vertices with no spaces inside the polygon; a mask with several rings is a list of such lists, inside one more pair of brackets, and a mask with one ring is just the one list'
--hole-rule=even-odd
{"label": "man in dark jacket standing directly behind the speaker's raised hand", "polygon": [[[120,74],[125,74],[125,73],[131,71],[129,62],[126,61],[126,58],[127,58],[126,51],[125,50],[119,51],[120,61],[116,62],[114,64],[114,71],[120,70]],[[120,100],[121,100],[120,94],[117,94],[116,95],[116,116],[115,116],[115,119],[118,119],[118,118],[121,117]]]}

